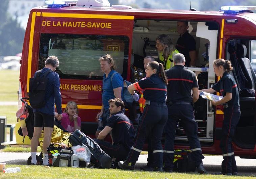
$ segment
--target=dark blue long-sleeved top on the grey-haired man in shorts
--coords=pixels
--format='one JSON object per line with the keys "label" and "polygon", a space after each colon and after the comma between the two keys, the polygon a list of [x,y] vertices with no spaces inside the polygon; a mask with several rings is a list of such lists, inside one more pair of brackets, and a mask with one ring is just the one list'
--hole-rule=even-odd
{"label": "dark blue long-sleeved top on the grey-haired man in shorts", "polygon": [[[49,68],[43,68],[40,76],[43,76],[45,72],[50,70]],[[58,114],[62,114],[61,110],[61,94],[60,94],[60,80],[59,75],[56,72],[50,72],[46,76],[48,78],[45,101],[46,104],[42,108],[33,109],[33,112],[42,112],[49,115],[54,115],[54,103],[56,104]]]}

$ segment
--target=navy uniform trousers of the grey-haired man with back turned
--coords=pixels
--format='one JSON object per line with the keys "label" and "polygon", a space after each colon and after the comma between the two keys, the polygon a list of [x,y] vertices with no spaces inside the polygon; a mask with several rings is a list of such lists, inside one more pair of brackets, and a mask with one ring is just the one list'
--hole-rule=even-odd
{"label": "navy uniform trousers of the grey-haired man with back turned", "polygon": [[196,167],[202,162],[202,159],[204,159],[201,145],[197,137],[198,125],[195,121],[193,106],[191,104],[169,104],[168,120],[165,128],[164,170],[173,170],[174,138],[179,119],[184,125],[190,145],[191,157]]}

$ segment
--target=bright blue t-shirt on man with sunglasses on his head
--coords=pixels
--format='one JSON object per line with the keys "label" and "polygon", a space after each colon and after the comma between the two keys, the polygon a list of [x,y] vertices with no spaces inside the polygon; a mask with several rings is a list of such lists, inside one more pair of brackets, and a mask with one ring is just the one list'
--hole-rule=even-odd
{"label": "bright blue t-shirt on man with sunglasses on his head", "polygon": [[107,77],[106,77],[106,74],[103,75],[102,103],[104,105],[105,110],[108,110],[108,108],[109,108],[108,100],[116,98],[114,95],[115,88],[122,87],[121,96],[123,95],[124,81],[123,81],[123,77],[121,76],[121,74],[119,74],[119,73],[114,74],[112,83],[111,83],[111,76],[114,72],[116,72],[116,71],[111,70]]}

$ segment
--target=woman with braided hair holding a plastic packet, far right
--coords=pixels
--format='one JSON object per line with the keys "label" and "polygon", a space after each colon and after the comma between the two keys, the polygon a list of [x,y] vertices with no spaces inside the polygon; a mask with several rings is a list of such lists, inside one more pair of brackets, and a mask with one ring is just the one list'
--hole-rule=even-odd
{"label": "woman with braided hair holding a plastic packet, far right", "polygon": [[222,137],[220,148],[223,155],[221,174],[237,175],[232,139],[236,125],[239,122],[241,111],[239,104],[239,91],[234,78],[229,74],[233,68],[229,60],[217,59],[213,61],[214,72],[221,79],[210,89],[202,89],[199,92],[214,93],[218,91],[223,98],[220,101],[212,101],[212,105],[223,105],[224,120],[222,124]]}

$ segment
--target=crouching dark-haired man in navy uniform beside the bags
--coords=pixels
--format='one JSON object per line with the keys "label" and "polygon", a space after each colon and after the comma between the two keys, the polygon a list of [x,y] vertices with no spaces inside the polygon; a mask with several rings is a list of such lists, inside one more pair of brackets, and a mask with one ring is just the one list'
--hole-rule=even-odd
{"label": "crouching dark-haired man in navy uniform beside the bags", "polygon": [[[94,140],[110,157],[116,158],[114,163],[117,163],[126,159],[133,145],[135,130],[132,122],[123,112],[124,102],[119,98],[115,98],[108,100],[108,103],[111,116],[107,121],[106,127],[99,133],[98,138]],[[113,144],[104,141],[111,131]]]}

